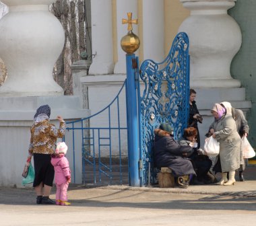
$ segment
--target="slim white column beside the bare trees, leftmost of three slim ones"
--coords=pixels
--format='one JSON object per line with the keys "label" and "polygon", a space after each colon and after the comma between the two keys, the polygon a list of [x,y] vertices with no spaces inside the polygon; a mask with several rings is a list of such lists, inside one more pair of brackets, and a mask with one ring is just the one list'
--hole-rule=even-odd
{"label": "slim white column beside the bare trees, leftmost of three slim ones", "polygon": [[90,75],[113,73],[112,1],[91,1],[92,13],[92,65]]}

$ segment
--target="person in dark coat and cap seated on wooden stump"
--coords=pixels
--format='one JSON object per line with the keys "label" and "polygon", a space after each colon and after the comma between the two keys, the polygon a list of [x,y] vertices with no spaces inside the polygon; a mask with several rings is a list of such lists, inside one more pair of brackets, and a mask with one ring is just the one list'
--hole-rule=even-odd
{"label": "person in dark coat and cap seated on wooden stump", "polygon": [[189,176],[195,175],[193,165],[187,155],[193,153],[190,145],[181,146],[173,139],[173,130],[170,124],[160,124],[154,130],[154,161],[156,167],[169,167],[177,178],[177,184],[181,188],[189,186]]}

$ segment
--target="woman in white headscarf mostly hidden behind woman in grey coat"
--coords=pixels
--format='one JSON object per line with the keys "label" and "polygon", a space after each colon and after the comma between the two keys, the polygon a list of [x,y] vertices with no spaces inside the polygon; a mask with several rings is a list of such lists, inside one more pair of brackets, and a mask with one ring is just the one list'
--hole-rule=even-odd
{"label": "woman in white headscarf mostly hidden behind woman in grey coat", "polygon": [[[224,106],[224,108],[226,108],[227,114],[232,115],[232,117],[234,118],[234,121],[236,122],[236,130],[240,137],[247,137],[249,134],[249,126],[243,112],[240,109],[232,108],[229,102],[221,102],[220,105]],[[245,181],[245,178],[243,177],[243,172],[245,171],[245,161],[246,159],[243,158],[243,150],[241,149],[240,168],[238,170],[239,180],[241,182]]]}

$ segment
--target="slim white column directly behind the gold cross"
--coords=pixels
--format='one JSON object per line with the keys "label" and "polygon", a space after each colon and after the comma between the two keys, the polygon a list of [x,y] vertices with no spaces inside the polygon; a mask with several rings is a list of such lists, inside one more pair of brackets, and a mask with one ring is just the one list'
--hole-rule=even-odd
{"label": "slim white column directly behind the gold cross", "polygon": [[[127,24],[122,24],[122,19],[127,19],[127,13],[133,13],[132,19],[137,19],[137,0],[117,0],[117,57],[115,74],[126,73],[125,52],[121,48],[121,38],[127,34]],[[139,22],[140,23],[140,22]],[[137,33],[137,25],[133,24],[133,33]]]}

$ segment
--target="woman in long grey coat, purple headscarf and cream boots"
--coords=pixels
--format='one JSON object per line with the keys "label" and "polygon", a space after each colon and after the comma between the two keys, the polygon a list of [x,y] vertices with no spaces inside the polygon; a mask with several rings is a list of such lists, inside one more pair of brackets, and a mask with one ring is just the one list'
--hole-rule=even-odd
{"label": "woman in long grey coat, purple headscarf and cream boots", "polygon": [[[218,184],[232,185],[235,170],[240,167],[241,137],[236,130],[236,122],[230,114],[226,114],[226,109],[220,104],[214,104],[212,108],[214,122],[210,126],[212,137],[220,142],[220,165],[222,169],[222,179]],[[229,180],[226,182],[226,174],[229,172]],[[225,183],[226,182],[226,183]]]}

